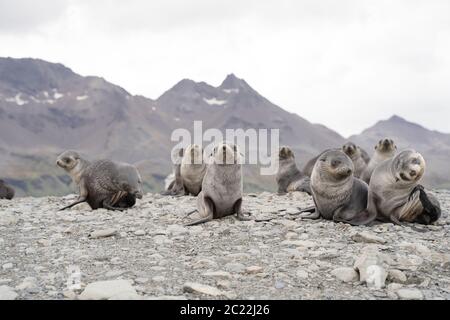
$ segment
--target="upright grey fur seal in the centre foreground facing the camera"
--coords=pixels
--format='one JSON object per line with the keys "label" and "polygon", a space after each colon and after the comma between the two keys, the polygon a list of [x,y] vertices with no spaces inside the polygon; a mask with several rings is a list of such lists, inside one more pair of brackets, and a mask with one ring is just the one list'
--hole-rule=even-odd
{"label": "upright grey fur seal in the centre foreground facing the camera", "polygon": [[214,147],[197,197],[200,218],[187,223],[196,225],[237,214],[247,220],[242,212],[242,165],[238,147],[222,142]]}

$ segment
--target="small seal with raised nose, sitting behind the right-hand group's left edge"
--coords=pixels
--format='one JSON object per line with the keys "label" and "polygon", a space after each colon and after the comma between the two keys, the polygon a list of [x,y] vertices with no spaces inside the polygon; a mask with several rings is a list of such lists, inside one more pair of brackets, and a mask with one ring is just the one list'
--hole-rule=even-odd
{"label": "small seal with raised nose, sitting behind the right-hand group's left edge", "polygon": [[310,179],[297,168],[291,148],[286,146],[280,148],[278,162],[278,172],[275,178],[278,185],[278,193],[285,194],[292,191],[301,191],[311,195]]}

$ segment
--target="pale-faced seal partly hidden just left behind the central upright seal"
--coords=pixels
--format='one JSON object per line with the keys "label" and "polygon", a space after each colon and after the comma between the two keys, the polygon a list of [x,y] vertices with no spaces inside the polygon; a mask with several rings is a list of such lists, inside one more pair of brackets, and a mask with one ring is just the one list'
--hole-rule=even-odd
{"label": "pale-faced seal partly hidden just left behind the central upright seal", "polygon": [[185,194],[197,196],[200,193],[205,173],[203,149],[197,144],[189,145],[184,152],[180,168]]}

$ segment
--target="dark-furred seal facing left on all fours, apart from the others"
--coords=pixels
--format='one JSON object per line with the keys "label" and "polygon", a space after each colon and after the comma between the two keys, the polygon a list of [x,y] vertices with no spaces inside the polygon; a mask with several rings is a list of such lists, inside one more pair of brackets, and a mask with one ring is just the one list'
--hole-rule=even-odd
{"label": "dark-furred seal facing left on all fours, apart from the others", "polygon": [[78,200],[65,210],[82,202],[92,209],[124,210],[142,199],[142,181],[136,167],[111,160],[89,162],[75,151],[65,151],[56,163],[66,170],[80,189]]}

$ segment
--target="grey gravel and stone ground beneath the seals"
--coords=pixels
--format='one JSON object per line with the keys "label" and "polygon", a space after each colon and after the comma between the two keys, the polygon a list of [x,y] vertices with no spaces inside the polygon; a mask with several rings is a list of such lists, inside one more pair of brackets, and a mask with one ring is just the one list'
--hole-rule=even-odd
{"label": "grey gravel and stone ground beneath the seals", "polygon": [[0,299],[450,299],[450,192],[419,233],[298,219],[302,193],[248,194],[253,221],[183,227],[193,197],[124,212],[0,200]]}

